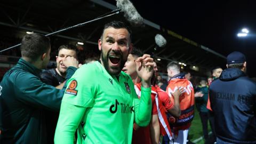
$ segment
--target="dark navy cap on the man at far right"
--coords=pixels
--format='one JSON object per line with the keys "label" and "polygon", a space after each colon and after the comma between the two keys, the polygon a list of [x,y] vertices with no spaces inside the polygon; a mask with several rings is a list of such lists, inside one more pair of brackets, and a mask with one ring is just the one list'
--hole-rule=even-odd
{"label": "dark navy cap on the man at far right", "polygon": [[245,55],[241,52],[231,52],[227,57],[227,64],[232,63],[244,63],[245,62]]}

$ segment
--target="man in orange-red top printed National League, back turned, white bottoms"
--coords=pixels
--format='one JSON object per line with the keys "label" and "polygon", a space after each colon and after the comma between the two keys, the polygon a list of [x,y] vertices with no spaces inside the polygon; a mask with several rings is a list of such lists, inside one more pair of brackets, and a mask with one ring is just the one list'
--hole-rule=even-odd
{"label": "man in orange-red top printed National League, back turned, white bottoms", "polygon": [[[170,62],[167,65],[167,75],[170,77],[166,92],[173,99],[172,93],[182,87],[185,89],[179,97],[181,114],[179,118],[169,118],[173,126],[174,143],[187,143],[188,130],[194,118],[194,89],[191,82],[180,73],[180,66],[177,62]],[[174,101],[174,100],[173,100]]]}

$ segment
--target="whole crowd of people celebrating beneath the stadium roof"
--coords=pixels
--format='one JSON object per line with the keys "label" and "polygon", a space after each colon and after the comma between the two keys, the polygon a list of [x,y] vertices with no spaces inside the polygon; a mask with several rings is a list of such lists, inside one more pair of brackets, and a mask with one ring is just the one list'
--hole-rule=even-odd
{"label": "whole crowd of people celebrating beneath the stadium roof", "polygon": [[0,83],[0,142],[188,143],[196,107],[205,143],[256,143],[256,83],[244,54],[230,53],[227,69],[213,68],[199,85],[171,61],[166,82],[131,34],[124,22],[106,23],[99,59],[82,65],[76,46],[61,45],[52,69],[50,39],[25,35]]}

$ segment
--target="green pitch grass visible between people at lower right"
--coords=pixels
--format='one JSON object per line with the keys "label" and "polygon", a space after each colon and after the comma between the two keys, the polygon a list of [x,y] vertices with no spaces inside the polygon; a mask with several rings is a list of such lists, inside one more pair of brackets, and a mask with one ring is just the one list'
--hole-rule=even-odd
{"label": "green pitch grass visible between people at lower right", "polygon": [[[210,123],[208,122],[208,132],[210,132],[210,131],[211,131],[211,126],[210,126]],[[195,107],[195,117],[190,126],[188,135],[189,135],[188,137],[189,137],[190,141],[194,141],[200,137],[203,137],[203,127],[202,127],[201,119],[200,119],[200,116],[199,116],[199,113],[198,113],[196,107]],[[196,143],[204,144],[204,138],[197,141]]]}

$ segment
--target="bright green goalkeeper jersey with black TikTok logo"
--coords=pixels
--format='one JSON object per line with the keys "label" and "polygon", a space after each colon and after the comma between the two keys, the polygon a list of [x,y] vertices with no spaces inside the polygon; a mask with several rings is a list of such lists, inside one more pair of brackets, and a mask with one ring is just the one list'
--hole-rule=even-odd
{"label": "bright green goalkeeper jersey with black TikTok logo", "polygon": [[150,93],[142,87],[139,100],[123,71],[117,77],[99,62],[82,66],[68,81],[54,142],[73,143],[78,127],[77,143],[131,143],[133,123],[150,122]]}

